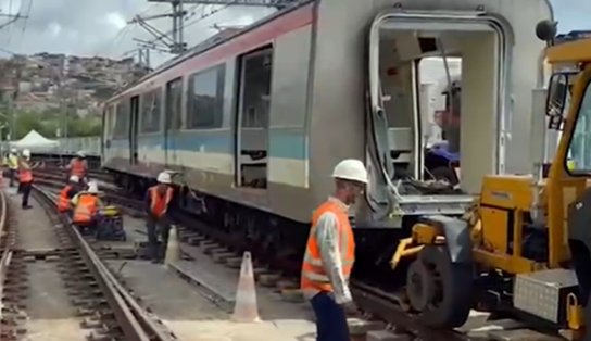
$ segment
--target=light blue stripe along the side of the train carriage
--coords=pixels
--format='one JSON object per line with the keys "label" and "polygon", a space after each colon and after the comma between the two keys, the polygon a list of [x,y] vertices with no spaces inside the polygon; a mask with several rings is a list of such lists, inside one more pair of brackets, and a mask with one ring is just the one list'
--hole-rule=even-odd
{"label": "light blue stripe along the side of the train carriage", "polygon": [[[163,148],[164,138],[162,135],[139,136],[140,148]],[[269,156],[305,160],[305,137],[300,131],[269,130]],[[171,141],[171,150],[199,151],[203,146],[204,152],[234,153],[234,135],[229,130],[218,131],[180,131],[175,134],[174,141]],[[111,148],[128,148],[127,139],[111,140]]]}

